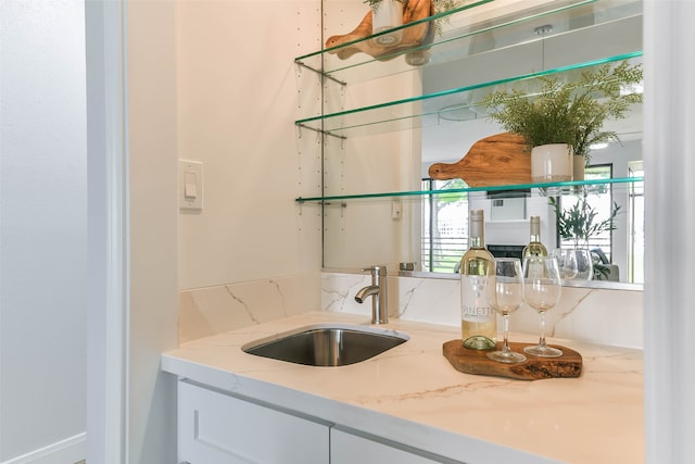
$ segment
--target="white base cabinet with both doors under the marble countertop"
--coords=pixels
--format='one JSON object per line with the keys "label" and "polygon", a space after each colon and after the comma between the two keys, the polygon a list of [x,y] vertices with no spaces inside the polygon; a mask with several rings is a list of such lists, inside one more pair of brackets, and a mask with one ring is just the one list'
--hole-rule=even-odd
{"label": "white base cabinet with both doors under the marble countertop", "polygon": [[[357,435],[356,435],[357,434]],[[369,436],[370,437],[370,436]],[[190,464],[433,464],[438,459],[274,405],[178,383],[178,462]]]}

